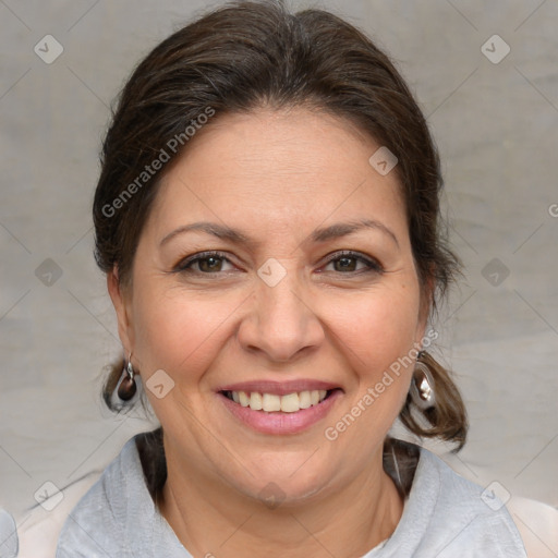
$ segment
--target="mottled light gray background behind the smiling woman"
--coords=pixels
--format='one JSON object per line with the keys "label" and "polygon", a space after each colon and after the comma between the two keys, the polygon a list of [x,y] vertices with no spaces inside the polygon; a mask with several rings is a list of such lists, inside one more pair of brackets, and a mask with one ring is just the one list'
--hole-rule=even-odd
{"label": "mottled light gray background behind the smiling woman", "polygon": [[[92,256],[97,154],[133,65],[213,4],[0,0],[0,507],[16,515],[46,481],[100,470],[146,428],[140,412],[114,417],[99,400],[120,343]],[[558,2],[314,5],[387,49],[440,149],[465,276],[439,347],[471,415],[469,444],[445,459],[557,507]],[[64,48],[51,64],[34,52],[47,34]],[[511,48],[498,64],[481,50],[494,34]],[[46,258],[62,271],[50,287],[35,274]],[[509,270],[498,286],[493,258]]]}

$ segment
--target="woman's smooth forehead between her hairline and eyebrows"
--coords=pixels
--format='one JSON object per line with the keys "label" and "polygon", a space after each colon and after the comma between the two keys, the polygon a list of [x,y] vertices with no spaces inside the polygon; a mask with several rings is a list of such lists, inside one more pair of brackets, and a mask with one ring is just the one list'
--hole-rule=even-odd
{"label": "woman's smooth forehead between her hairline and eyebrows", "polygon": [[207,218],[292,229],[371,217],[402,233],[397,173],[368,161],[379,147],[350,122],[302,108],[216,116],[166,173],[153,217],[158,229]]}

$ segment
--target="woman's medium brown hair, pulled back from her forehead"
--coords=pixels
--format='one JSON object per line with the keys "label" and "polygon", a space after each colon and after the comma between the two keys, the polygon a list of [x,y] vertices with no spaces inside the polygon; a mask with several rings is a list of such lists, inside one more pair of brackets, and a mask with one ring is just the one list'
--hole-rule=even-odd
{"label": "woman's medium brown hair, pulled back from her forehead", "polygon": [[[438,154],[413,95],[389,58],[353,25],[322,10],[292,14],[279,1],[225,4],[165,39],[137,65],[102,146],[93,207],[100,269],[116,266],[121,286],[130,284],[142,228],[171,161],[142,173],[161,149],[170,159],[187,149],[185,130],[208,108],[213,122],[227,113],[293,106],[345,119],[396,155],[418,280],[423,292],[434,286],[427,302],[435,311],[459,264],[440,218]],[[169,153],[172,138],[182,138],[175,153]],[[400,417],[417,436],[460,449],[468,430],[462,399],[442,366],[430,355],[425,364],[437,405],[424,413],[426,426],[410,398]],[[107,402],[121,369],[116,366],[106,384]],[[386,448],[396,446],[388,439]],[[403,485],[407,492],[409,482]]]}

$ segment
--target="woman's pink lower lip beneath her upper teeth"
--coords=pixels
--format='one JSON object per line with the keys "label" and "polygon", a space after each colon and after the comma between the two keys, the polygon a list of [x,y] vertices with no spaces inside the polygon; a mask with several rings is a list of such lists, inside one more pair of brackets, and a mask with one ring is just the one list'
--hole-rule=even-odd
{"label": "woman's pink lower lip beneath her upper teeth", "polygon": [[250,407],[242,407],[231,401],[223,393],[217,395],[225,403],[225,407],[246,426],[264,434],[280,435],[298,434],[319,422],[329,413],[335,402],[342,396],[342,391],[336,389],[317,405],[301,409],[295,413],[254,411]]}

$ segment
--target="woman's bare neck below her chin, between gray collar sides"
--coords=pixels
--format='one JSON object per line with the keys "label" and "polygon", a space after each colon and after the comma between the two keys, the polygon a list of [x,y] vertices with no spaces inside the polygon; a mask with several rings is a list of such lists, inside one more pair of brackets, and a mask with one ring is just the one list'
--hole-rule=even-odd
{"label": "woman's bare neck below her chin, between gray collar sides", "polygon": [[393,533],[403,511],[381,453],[380,447],[366,470],[326,496],[275,508],[168,459],[160,512],[194,556],[363,556]]}

